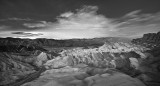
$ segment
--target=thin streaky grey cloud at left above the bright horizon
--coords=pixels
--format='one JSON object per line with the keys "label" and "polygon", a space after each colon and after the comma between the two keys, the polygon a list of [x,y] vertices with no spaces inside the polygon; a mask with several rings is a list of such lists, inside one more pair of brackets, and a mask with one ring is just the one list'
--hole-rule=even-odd
{"label": "thin streaky grey cloud at left above the bright horizon", "polygon": [[[9,28],[3,28],[3,30],[6,31],[32,31],[36,29],[40,29],[40,27],[45,26],[46,21],[37,21],[30,18],[6,18],[6,19],[0,19],[0,27],[7,26]],[[36,25],[35,25],[36,24]],[[0,30],[2,31],[2,30]]]}

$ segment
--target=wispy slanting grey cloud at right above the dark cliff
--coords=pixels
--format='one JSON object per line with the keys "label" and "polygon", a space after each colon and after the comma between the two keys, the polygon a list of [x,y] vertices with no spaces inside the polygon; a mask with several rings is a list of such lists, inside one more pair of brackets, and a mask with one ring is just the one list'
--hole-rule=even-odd
{"label": "wispy slanting grey cloud at right above the dark cliff", "polygon": [[140,13],[140,10],[133,11],[115,20],[118,22],[116,32],[119,36],[140,37],[145,33],[160,31],[160,12]]}

